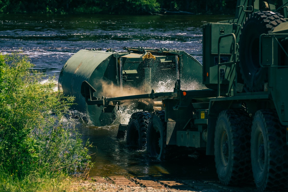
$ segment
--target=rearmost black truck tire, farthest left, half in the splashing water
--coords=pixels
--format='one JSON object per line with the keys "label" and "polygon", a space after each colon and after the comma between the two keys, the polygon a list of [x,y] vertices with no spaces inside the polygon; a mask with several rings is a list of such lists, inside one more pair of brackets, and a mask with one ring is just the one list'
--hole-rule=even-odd
{"label": "rearmost black truck tire, farthest left, half in the splashing water", "polygon": [[127,128],[127,145],[143,149],[146,144],[147,127],[150,117],[151,114],[147,112],[136,112],[131,115]]}

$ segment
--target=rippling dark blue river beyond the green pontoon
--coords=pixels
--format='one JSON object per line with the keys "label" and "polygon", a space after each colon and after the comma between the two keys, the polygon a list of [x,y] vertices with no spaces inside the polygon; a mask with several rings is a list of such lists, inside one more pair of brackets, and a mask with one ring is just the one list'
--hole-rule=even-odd
{"label": "rippling dark blue river beyond the green pontoon", "polygon": [[0,14],[0,52],[22,50],[36,69],[56,75],[78,50],[150,47],[184,50],[202,62],[206,22],[231,16],[122,16]]}

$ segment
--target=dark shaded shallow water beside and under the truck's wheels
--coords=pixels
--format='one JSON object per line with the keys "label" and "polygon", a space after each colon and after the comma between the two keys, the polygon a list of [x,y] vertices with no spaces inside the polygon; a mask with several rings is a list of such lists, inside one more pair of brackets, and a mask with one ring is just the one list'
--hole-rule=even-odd
{"label": "dark shaded shallow water beside and under the truck's wheels", "polygon": [[145,150],[136,151],[126,145],[126,140],[117,139],[118,126],[80,126],[83,139],[89,138],[96,146],[90,149],[94,168],[90,176],[165,176],[199,180],[217,180],[214,156],[193,153],[170,161],[157,161]]}

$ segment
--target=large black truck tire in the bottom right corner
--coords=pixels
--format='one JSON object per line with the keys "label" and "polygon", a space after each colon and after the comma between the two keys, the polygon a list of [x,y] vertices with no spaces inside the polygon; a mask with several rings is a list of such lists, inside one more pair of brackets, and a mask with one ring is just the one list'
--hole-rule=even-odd
{"label": "large black truck tire in the bottom right corner", "polygon": [[251,163],[259,191],[288,190],[286,128],[280,124],[276,110],[259,110],[255,113],[251,133]]}

